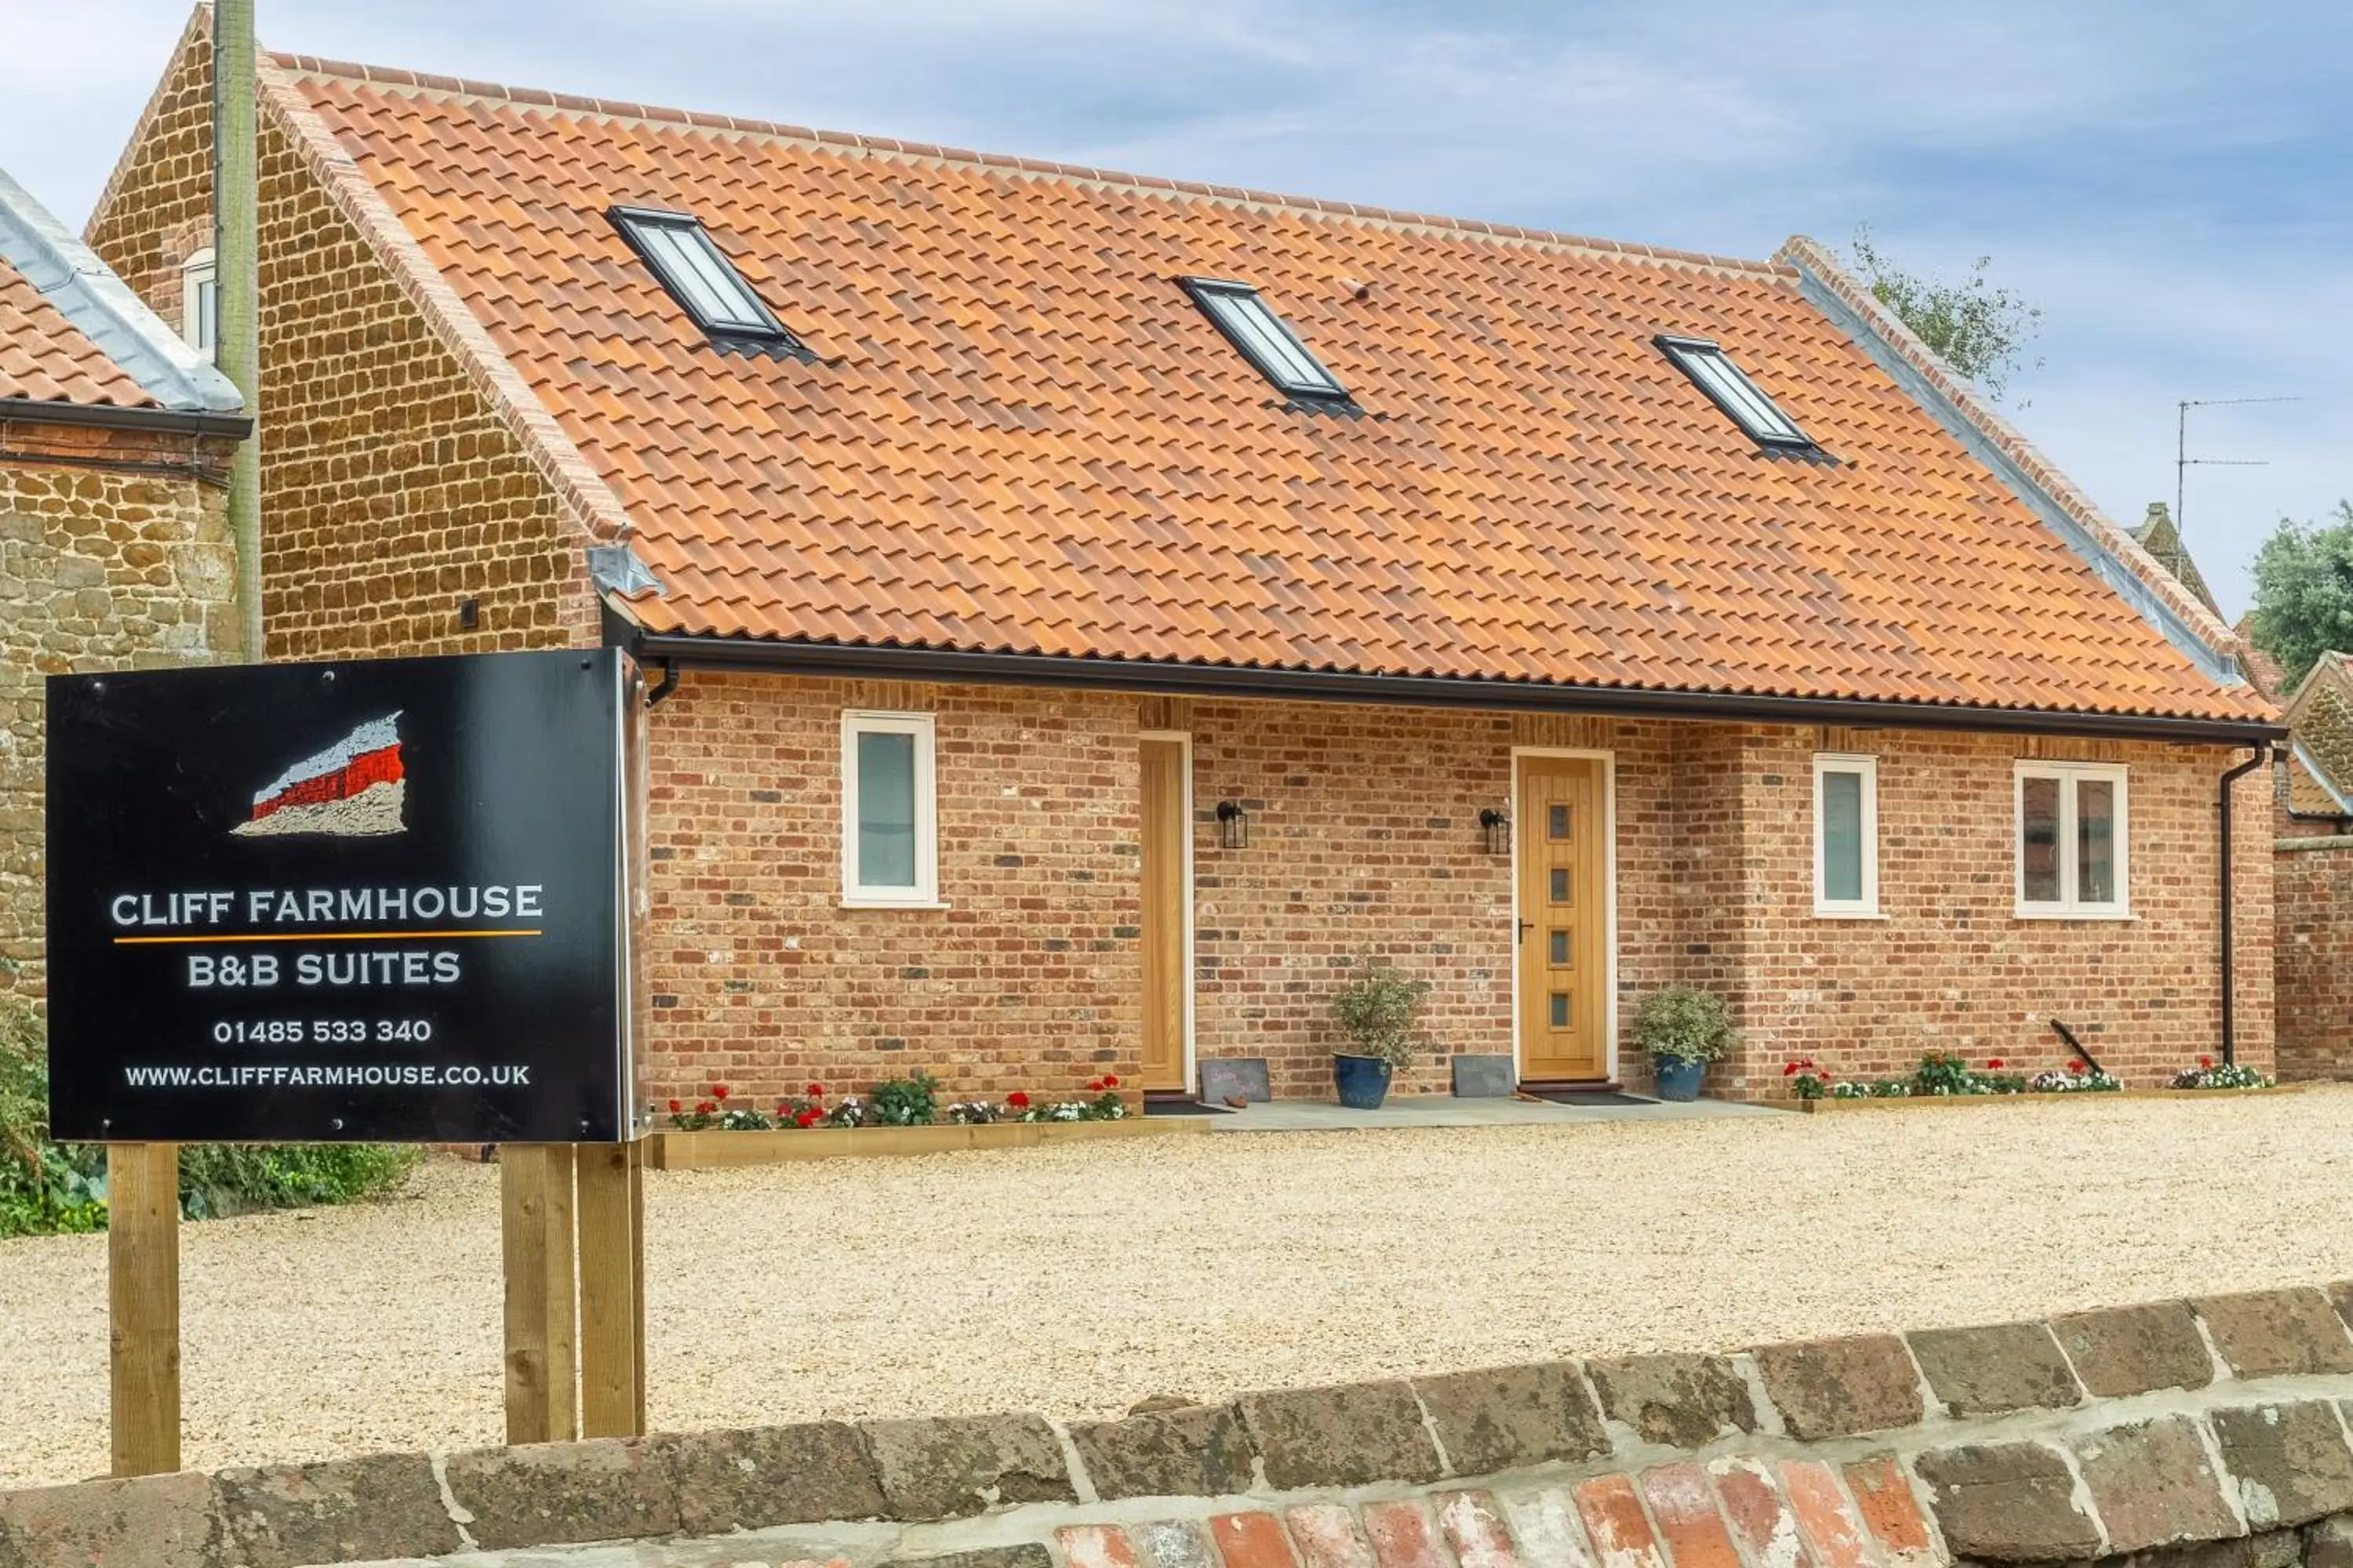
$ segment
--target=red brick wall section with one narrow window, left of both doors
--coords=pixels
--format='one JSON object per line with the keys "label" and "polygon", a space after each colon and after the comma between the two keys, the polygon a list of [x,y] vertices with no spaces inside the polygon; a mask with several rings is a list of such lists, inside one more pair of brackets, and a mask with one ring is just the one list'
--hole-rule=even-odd
{"label": "red brick wall section with one narrow window, left of both doors", "polygon": [[[840,715],[936,715],[946,910],[840,907]],[[1136,703],[689,672],[652,712],[654,1093],[1134,1084]]]}

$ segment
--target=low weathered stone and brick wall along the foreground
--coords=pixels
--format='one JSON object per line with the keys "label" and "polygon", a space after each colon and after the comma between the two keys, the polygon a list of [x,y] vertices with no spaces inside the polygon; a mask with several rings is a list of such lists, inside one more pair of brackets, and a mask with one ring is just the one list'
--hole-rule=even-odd
{"label": "low weathered stone and brick wall along the foreground", "polygon": [[812,1422],[92,1481],[0,1493],[0,1563],[2348,1568],[2346,1309],[2353,1284],[1106,1422]]}

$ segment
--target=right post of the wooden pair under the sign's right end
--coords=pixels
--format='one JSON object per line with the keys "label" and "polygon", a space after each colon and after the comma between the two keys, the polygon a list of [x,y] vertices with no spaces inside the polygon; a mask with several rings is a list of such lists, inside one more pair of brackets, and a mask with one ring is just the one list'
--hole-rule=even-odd
{"label": "right post of the wooden pair under the sign's right end", "polygon": [[584,1143],[579,1164],[581,1436],[645,1436],[645,1157]]}

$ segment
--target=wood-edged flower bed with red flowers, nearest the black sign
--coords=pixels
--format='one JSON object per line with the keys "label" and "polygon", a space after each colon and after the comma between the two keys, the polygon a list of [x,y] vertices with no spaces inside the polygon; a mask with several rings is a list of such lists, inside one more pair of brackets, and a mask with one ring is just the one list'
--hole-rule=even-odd
{"label": "wood-edged flower bed with red flowers, nearest the black sign", "polygon": [[1080,1138],[1148,1138],[1209,1131],[1207,1119],[1141,1121],[1127,1114],[1120,1079],[1087,1084],[1085,1100],[1049,1100],[1014,1091],[1002,1100],[939,1103],[939,1079],[915,1072],[885,1079],[866,1098],[826,1100],[824,1084],[760,1110],[713,1084],[706,1098],[671,1100],[668,1126],[649,1138],[656,1171],[699,1166],[767,1166],[842,1154],[941,1154],[946,1150],[1019,1150]]}

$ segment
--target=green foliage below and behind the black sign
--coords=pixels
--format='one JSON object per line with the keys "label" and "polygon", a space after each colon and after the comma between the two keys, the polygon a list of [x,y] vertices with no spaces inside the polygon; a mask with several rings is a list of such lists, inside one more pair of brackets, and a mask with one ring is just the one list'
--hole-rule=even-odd
{"label": "green foliage below and behind the black sign", "polygon": [[[49,1067],[40,1018],[0,997],[0,1237],[106,1229],[106,1150],[49,1143]],[[209,1220],[256,1208],[351,1204],[400,1185],[414,1150],[384,1145],[191,1145],[179,1208]]]}

